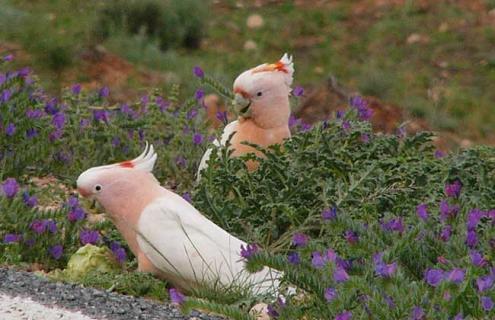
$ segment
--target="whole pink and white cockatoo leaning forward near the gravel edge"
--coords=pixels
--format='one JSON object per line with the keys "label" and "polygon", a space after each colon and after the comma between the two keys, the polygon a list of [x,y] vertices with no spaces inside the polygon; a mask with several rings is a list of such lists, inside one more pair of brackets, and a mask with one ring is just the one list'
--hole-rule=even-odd
{"label": "whole pink and white cockatoo leaning forward near the gravel edge", "polygon": [[84,197],[94,198],[138,259],[151,272],[190,290],[199,285],[247,285],[253,293],[275,293],[280,272],[250,274],[240,255],[242,240],[232,236],[179,195],[160,186],[151,173],[153,146],[134,160],[94,167],[77,179]]}

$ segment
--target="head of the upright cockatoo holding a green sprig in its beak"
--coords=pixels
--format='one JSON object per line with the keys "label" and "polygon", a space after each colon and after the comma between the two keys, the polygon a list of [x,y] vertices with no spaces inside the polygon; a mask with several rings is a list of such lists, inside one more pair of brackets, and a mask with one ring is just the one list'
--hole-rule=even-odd
{"label": "head of the upright cockatoo holding a green sprig in its beak", "polygon": [[292,57],[287,53],[275,63],[241,73],[234,81],[234,105],[239,115],[262,128],[287,124],[293,73]]}

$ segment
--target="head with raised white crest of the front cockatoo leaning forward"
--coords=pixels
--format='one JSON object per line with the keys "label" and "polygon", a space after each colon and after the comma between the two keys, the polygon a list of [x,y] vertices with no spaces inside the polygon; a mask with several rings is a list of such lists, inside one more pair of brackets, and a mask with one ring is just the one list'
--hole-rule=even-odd
{"label": "head with raised white crest of the front cockatoo leaning forward", "polygon": [[[151,174],[157,155],[146,143],[144,152],[134,160],[90,168],[77,178],[77,190],[93,198],[106,209],[120,202],[130,203],[154,190],[159,184]],[[136,200],[137,201],[137,200]]]}

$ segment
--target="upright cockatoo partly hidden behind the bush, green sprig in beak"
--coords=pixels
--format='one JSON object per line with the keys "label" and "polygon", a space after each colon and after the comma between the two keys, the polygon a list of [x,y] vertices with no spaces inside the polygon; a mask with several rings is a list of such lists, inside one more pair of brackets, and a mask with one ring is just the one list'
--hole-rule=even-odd
{"label": "upright cockatoo partly hidden behind the bush, green sprig in beak", "polygon": [[[286,54],[276,63],[264,63],[241,73],[234,81],[234,106],[239,112],[238,120],[225,126],[217,147],[225,146],[231,136],[232,156],[246,153],[262,156],[256,149],[242,144],[247,141],[262,147],[282,143],[290,138],[289,95],[291,92],[294,64],[292,57]],[[198,180],[201,170],[207,167],[212,149],[206,150],[198,168]],[[257,163],[248,161],[249,170],[254,170]]]}

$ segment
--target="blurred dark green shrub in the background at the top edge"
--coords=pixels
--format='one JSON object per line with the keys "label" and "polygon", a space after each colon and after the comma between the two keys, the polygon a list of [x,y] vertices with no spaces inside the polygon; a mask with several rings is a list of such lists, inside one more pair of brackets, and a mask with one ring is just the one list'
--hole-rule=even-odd
{"label": "blurred dark green shrub in the background at the top edge", "polygon": [[162,50],[196,49],[204,36],[207,5],[203,1],[110,1],[100,9],[96,34],[104,38],[124,28],[156,39]]}

